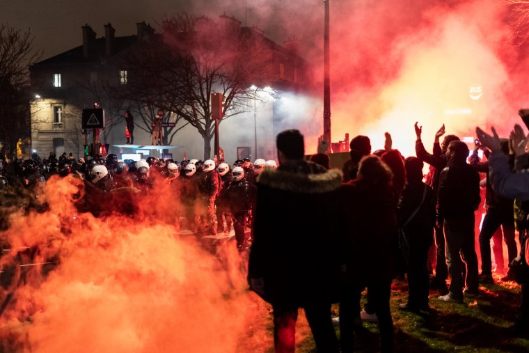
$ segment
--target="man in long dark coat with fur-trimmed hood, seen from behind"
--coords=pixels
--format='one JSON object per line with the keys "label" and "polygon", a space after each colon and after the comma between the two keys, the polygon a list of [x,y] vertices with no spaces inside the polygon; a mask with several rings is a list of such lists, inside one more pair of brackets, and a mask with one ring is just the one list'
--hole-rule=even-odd
{"label": "man in long dark coat with fur-trimmed hood, seen from behind", "polygon": [[280,166],[257,180],[248,283],[274,309],[276,352],[294,352],[298,308],[305,309],[318,352],[339,352],[331,303],[340,295],[341,175],[303,160],[298,130],[278,134],[276,146]]}

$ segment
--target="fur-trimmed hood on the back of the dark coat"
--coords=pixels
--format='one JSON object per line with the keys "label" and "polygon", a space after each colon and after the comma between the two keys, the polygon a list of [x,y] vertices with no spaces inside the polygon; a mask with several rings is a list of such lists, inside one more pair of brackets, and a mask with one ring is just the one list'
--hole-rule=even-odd
{"label": "fur-trimmed hood on the back of the dark coat", "polygon": [[257,179],[258,185],[300,194],[323,194],[335,191],[342,184],[342,172],[326,170],[309,161],[290,161],[277,169],[265,169]]}

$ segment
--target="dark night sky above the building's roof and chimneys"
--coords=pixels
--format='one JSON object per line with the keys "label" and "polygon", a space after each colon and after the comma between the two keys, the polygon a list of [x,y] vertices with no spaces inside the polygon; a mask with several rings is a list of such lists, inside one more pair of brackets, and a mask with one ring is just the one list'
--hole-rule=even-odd
{"label": "dark night sky above the building's roof and chimneys", "polygon": [[[89,24],[97,33],[104,35],[103,25],[110,22],[116,29],[116,36],[136,33],[136,22],[145,21],[157,28],[165,15],[181,11],[196,15],[207,15],[216,19],[226,13],[235,16],[244,26],[245,6],[248,6],[248,26],[258,25],[267,36],[279,42],[290,34],[278,13],[290,17],[298,13],[299,6],[290,4],[283,10],[283,1],[273,0],[1,0],[0,22],[15,29],[31,29],[35,35],[35,49],[42,49],[42,58],[54,56],[65,50],[81,45],[81,26]],[[323,11],[322,1],[310,1]],[[266,7],[266,8],[265,8]],[[258,9],[258,10],[257,10]],[[306,10],[305,10],[306,11]],[[290,14],[290,15],[289,15]],[[322,13],[323,19],[323,13]],[[300,18],[300,23],[301,21]],[[296,34],[298,37],[302,35]]]}

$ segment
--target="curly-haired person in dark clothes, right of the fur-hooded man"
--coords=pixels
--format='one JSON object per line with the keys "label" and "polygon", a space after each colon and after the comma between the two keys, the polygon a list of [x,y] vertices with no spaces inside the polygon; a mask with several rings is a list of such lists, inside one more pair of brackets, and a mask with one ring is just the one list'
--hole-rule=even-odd
{"label": "curly-haired person in dark clothes, right of the fur-hooded man", "polygon": [[345,283],[340,300],[342,352],[353,350],[354,319],[367,286],[377,313],[382,352],[393,350],[393,319],[389,308],[395,271],[397,198],[390,168],[377,156],[365,156],[355,180],[340,188],[340,209],[347,221]]}

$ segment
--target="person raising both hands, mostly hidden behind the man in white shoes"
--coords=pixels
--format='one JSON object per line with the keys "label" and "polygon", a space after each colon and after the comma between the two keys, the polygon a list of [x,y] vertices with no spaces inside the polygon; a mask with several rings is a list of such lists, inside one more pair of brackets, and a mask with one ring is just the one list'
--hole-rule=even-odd
{"label": "person raising both hands, mostly hidden behind the man in white shoes", "polygon": [[[433,166],[435,168],[434,175],[432,177],[432,184],[430,185],[434,189],[434,193],[437,195],[437,189],[439,187],[439,175],[441,171],[446,166],[447,155],[446,150],[448,144],[451,141],[459,141],[459,137],[455,135],[447,135],[443,139],[443,143],[439,144],[439,139],[443,134],[445,134],[445,125],[441,126],[439,130],[435,133],[434,139],[434,149],[433,154],[429,154],[423,141],[420,139],[420,135],[423,132],[423,127],[419,127],[418,123],[415,123],[415,133],[417,140],[415,143],[415,152],[417,158],[421,161]],[[446,287],[446,279],[448,278],[448,267],[446,266],[445,259],[445,235],[443,233],[443,220],[440,219],[438,222],[441,227],[435,228],[435,246],[436,246],[436,260],[435,260],[435,279],[432,281],[432,289],[439,289],[441,294],[448,293],[448,288]]]}

